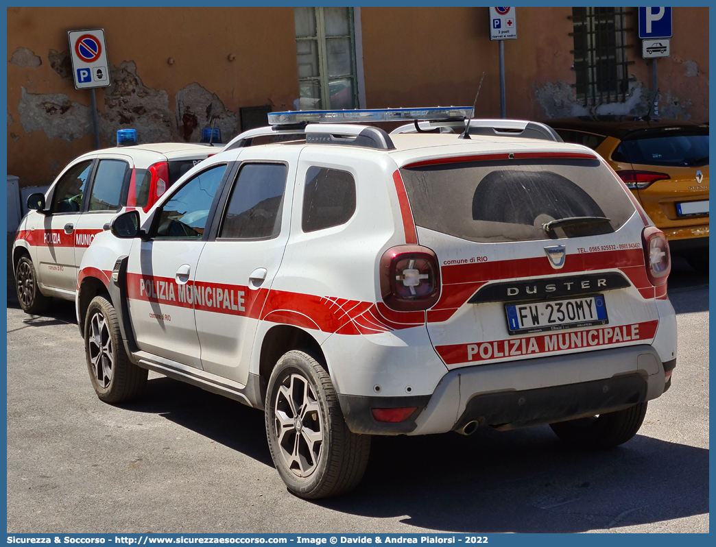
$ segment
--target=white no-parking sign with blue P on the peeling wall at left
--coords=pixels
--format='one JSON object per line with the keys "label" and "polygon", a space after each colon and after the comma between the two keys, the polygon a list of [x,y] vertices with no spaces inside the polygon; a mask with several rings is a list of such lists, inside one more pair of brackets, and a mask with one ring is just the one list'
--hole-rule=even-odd
{"label": "white no-parking sign with blue P on the peeling wall at left", "polygon": [[72,30],[67,33],[75,89],[110,85],[104,29]]}

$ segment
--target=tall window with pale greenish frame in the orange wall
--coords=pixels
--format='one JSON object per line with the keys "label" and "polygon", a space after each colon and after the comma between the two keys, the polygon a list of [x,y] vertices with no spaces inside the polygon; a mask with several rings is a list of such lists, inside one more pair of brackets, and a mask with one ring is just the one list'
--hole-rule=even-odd
{"label": "tall window with pale greenish frame in the orange wall", "polygon": [[353,8],[294,8],[299,110],[357,105]]}

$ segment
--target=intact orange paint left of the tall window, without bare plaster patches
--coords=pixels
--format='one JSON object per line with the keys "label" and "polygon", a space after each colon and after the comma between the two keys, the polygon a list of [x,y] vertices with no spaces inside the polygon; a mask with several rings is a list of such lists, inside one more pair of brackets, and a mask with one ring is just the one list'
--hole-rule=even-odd
{"label": "intact orange paint left of the tall window, without bare plaster patches", "polygon": [[[299,95],[291,8],[8,8],[8,61],[17,47],[42,58],[37,68],[6,64],[8,111],[14,120],[8,126],[8,173],[19,175],[22,185],[49,183],[59,173],[51,163],[62,168],[94,147],[92,135],[68,143],[49,140],[41,131],[28,134],[17,110],[21,87],[90,104],[89,92],[59,77],[47,56],[50,49],[69,49],[67,31],[93,28],[105,29],[110,63],[134,61],[145,86],[168,92],[171,110],[176,92],[192,82],[216,93],[233,112],[266,104],[288,110]],[[229,61],[229,54],[236,60]],[[168,64],[169,57],[174,64]],[[102,111],[102,89],[96,94]]]}

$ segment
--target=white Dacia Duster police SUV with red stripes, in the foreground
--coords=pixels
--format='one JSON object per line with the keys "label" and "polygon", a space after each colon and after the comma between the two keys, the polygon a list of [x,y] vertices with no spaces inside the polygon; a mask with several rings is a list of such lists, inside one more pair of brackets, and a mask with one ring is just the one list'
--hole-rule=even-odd
{"label": "white Dacia Duster police SUV with red stripes, in the foreground", "polygon": [[274,113],[117,216],[79,271],[98,397],[151,369],[261,408],[305,498],[357,485],[371,435],[633,437],[676,364],[664,234],[592,150],[470,113]]}

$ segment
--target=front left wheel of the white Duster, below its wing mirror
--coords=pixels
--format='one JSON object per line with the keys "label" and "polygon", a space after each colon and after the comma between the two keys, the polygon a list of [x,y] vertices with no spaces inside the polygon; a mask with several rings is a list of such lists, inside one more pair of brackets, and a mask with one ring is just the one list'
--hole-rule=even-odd
{"label": "front left wheel of the white Duster, below its wing mirror", "polygon": [[87,307],[84,353],[92,387],[100,400],[125,402],[142,394],[148,371],[127,357],[117,312],[105,296],[95,296]]}

